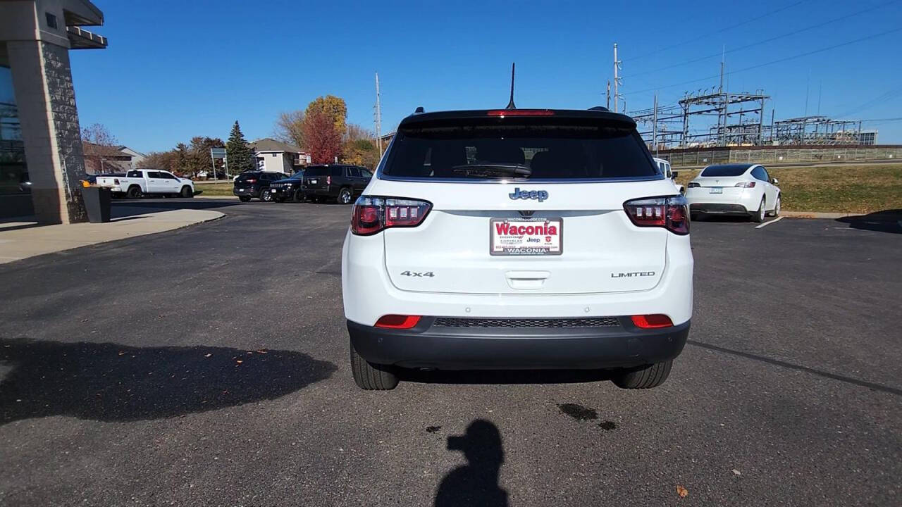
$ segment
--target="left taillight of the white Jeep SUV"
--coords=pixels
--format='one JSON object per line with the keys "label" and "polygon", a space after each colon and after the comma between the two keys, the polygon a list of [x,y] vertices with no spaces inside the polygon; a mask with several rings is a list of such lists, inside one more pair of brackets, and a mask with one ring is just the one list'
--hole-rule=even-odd
{"label": "left taillight of the white Jeep SUV", "polygon": [[351,232],[372,235],[389,227],[416,227],[430,209],[424,200],[361,196],[351,212]]}

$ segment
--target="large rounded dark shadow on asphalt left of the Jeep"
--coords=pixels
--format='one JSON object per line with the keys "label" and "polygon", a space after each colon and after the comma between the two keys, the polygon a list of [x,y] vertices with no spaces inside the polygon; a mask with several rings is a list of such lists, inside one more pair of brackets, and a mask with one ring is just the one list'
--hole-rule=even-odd
{"label": "large rounded dark shadow on asphalt left of the Jeep", "polygon": [[286,350],[0,338],[0,424],[57,415],[170,418],[272,400],[335,371]]}

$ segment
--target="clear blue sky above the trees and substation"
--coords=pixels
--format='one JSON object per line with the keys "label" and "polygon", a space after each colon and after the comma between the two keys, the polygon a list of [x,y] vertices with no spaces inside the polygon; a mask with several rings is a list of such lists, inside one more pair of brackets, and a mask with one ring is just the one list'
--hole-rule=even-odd
{"label": "clear blue sky above the trees and substation", "polygon": [[[236,119],[248,139],[269,136],[280,111],[303,109],[326,94],[344,97],[348,121],[372,129],[375,71],[382,131],[389,132],[417,106],[505,106],[511,61],[517,106],[603,105],[617,42],[623,91],[634,110],[650,107],[655,89],[668,104],[716,86],[716,78],[672,85],[717,75],[720,57],[662,67],[790,34],[728,52],[731,72],[902,26],[902,2],[887,0],[94,2],[105,14],[97,32],[109,47],[71,52],[81,123],[106,124],[120,143],[145,152],[194,135],[225,139]],[[826,24],[799,32],[820,23]],[[819,101],[822,115],[897,118],[900,47],[897,30],[730,74],[728,88],[764,89],[773,97],[766,117],[773,106],[778,120],[805,114],[806,88],[809,115]],[[874,100],[881,96],[887,98]],[[902,122],[865,127],[879,129],[880,143],[902,143]]]}

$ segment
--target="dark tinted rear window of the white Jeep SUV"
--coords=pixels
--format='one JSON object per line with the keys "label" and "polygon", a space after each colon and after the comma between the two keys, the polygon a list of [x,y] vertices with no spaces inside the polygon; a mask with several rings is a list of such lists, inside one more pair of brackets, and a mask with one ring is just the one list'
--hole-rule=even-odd
{"label": "dark tinted rear window of the white Jeep SUV", "polygon": [[575,180],[649,177],[659,171],[632,128],[454,124],[397,134],[382,173],[451,180]]}

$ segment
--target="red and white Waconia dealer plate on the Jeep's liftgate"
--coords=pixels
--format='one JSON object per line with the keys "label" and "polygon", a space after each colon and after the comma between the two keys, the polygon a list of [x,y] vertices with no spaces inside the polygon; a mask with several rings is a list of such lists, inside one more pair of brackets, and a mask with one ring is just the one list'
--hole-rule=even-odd
{"label": "red and white Waconia dealer plate on the Jeep's liftgate", "polygon": [[564,251],[563,218],[492,218],[492,255],[560,255]]}

